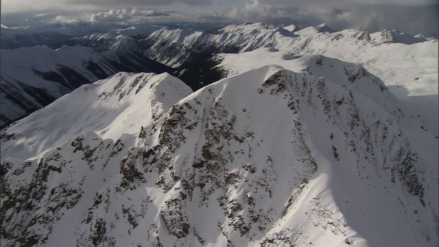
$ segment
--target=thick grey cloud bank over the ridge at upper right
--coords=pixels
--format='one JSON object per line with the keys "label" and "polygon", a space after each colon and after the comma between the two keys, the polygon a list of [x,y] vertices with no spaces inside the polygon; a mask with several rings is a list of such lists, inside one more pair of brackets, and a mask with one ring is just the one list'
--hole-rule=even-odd
{"label": "thick grey cloud bank over the ridge at upper right", "polygon": [[258,0],[246,4],[244,8],[234,8],[223,16],[235,22],[290,22],[302,26],[327,23],[334,30],[353,28],[378,32],[389,29],[438,37],[438,5],[348,5],[344,8],[322,8],[319,5],[278,7],[275,4],[261,4],[261,1],[268,0]]}

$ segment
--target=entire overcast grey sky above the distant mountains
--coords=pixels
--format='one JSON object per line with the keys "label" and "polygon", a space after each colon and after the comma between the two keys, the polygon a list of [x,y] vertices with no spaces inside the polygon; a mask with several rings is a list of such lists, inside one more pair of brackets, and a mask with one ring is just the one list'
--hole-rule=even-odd
{"label": "entire overcast grey sky above the distant mountains", "polygon": [[[438,4],[439,0],[1,0],[1,12],[2,23],[3,16],[11,16],[5,13],[25,11],[37,13],[34,16],[40,15],[41,20],[47,15],[51,22],[129,21],[165,16],[191,20],[196,16],[230,23],[327,23],[335,30],[397,29],[437,37]],[[124,8],[128,11],[123,12]],[[171,10],[183,14],[169,14]]]}

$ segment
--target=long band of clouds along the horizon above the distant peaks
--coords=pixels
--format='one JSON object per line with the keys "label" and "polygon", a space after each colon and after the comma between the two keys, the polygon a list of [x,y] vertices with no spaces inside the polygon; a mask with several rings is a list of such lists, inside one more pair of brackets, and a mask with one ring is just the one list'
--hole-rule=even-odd
{"label": "long band of clouds along the horizon above the distant peaks", "polygon": [[[76,1],[76,0],[72,0]],[[83,0],[78,0],[83,1]],[[112,0],[115,1],[116,0]],[[128,2],[137,0],[128,0]],[[171,2],[174,0],[163,0]],[[197,1],[210,0],[189,0]],[[352,0],[341,0],[351,2]],[[361,0],[362,1],[362,0]],[[386,0],[387,3],[400,1],[410,3],[412,0]],[[430,1],[430,0],[422,0]],[[407,34],[424,34],[438,37],[439,8],[438,5],[344,5],[329,8],[324,5],[309,5],[296,7],[298,0],[270,0],[270,4],[263,4],[268,0],[256,0],[226,11],[204,11],[201,13],[183,14],[179,12],[140,10],[137,8],[113,9],[108,11],[77,12],[76,14],[34,14],[36,19],[46,23],[74,23],[78,21],[91,22],[131,22],[147,21],[193,21],[193,22],[221,22],[244,23],[261,22],[274,24],[291,24],[309,26],[327,23],[334,30],[353,28],[378,32],[380,30],[399,30]],[[281,3],[288,2],[289,5]],[[310,3],[320,3],[321,0],[312,0]],[[281,5],[279,5],[281,4]],[[281,7],[279,7],[281,6]],[[163,9],[165,10],[165,9]],[[2,18],[2,23],[3,18]]]}

